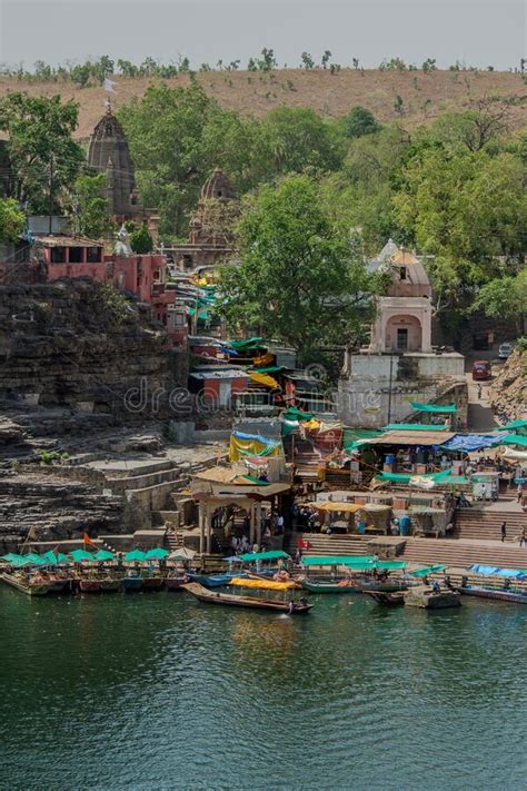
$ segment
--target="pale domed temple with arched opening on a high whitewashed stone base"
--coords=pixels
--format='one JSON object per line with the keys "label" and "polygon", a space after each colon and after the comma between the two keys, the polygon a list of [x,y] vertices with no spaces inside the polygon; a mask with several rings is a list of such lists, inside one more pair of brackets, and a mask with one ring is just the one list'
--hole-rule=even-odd
{"label": "pale domed temple with arched opening on a high whitewashed stone base", "polygon": [[410,402],[447,399],[463,408],[464,357],[432,346],[432,288],[422,260],[390,239],[367,268],[387,273],[389,283],[377,298],[369,344],[346,356],[339,417],[349,426],[380,427],[414,419]]}

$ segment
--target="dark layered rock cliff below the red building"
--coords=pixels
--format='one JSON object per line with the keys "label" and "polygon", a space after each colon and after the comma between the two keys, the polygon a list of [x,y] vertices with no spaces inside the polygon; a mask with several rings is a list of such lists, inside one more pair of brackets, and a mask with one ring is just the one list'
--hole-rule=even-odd
{"label": "dark layered rock cliff below the red building", "polygon": [[[2,402],[126,423],[146,418],[149,393],[172,386],[167,337],[147,306],[83,279],[0,286]],[[127,393],[137,404],[141,387],[145,409],[130,409]]]}

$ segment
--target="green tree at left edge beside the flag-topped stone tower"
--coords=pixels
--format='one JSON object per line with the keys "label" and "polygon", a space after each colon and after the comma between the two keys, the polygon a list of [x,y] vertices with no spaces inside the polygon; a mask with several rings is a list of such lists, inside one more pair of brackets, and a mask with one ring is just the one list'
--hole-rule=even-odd
{"label": "green tree at left edge beside the flag-topped stone tower", "polygon": [[0,129],[8,134],[8,155],[17,174],[11,197],[28,201],[32,211],[60,207],[66,188],[74,182],[84,160],[71,134],[78,105],[13,92],[0,100]]}

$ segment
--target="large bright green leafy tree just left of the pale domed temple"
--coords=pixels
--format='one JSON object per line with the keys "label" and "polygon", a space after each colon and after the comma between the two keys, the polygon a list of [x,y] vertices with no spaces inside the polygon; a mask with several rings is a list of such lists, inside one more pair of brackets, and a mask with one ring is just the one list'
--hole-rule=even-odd
{"label": "large bright green leafy tree just left of the pale domed temple", "polygon": [[372,280],[321,206],[314,179],[290,176],[247,200],[238,247],[241,264],[220,270],[230,327],[291,344],[304,363],[321,346],[360,335]]}

